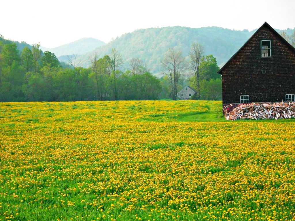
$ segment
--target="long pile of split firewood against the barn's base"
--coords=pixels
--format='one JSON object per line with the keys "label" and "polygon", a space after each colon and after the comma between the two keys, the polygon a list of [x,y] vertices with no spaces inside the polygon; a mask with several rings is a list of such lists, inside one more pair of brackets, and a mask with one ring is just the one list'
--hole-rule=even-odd
{"label": "long pile of split firewood against the barn's base", "polygon": [[248,103],[240,104],[225,113],[227,120],[239,119],[289,119],[295,118],[295,103]]}

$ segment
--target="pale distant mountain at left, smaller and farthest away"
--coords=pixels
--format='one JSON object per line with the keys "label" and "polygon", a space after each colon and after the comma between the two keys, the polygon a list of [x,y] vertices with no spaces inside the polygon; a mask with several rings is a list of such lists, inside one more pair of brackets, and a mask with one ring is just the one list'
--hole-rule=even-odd
{"label": "pale distant mountain at left, smaller and farthest away", "polygon": [[45,48],[42,46],[40,46],[40,48],[43,52],[50,51],[54,53],[57,57],[59,57],[62,55],[71,54],[83,55],[105,44],[106,43],[95,38],[82,38],[77,41],[68,44],[63,44],[55,48]]}

